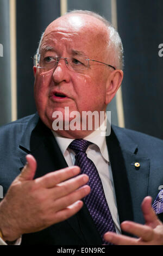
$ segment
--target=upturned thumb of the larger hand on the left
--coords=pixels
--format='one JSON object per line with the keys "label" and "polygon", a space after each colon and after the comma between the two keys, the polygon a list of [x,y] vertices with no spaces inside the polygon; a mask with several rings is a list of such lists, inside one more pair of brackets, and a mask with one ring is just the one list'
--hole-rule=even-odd
{"label": "upturned thumb of the larger hand on the left", "polygon": [[36,167],[37,167],[37,162],[35,158],[32,155],[27,155],[26,156],[27,163],[22,169],[20,175],[18,175],[18,180],[33,180],[35,172],[36,172]]}

